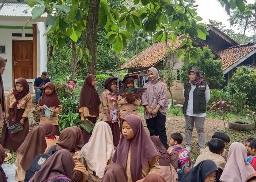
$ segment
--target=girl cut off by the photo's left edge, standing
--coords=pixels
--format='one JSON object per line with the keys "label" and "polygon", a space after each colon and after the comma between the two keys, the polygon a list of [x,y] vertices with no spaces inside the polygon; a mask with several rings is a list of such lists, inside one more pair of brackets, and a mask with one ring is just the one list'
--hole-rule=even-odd
{"label": "girl cut off by the photo's left edge, standing", "polygon": [[5,118],[5,97],[4,97],[4,85],[2,75],[4,74],[5,65],[7,59],[0,56],[0,127],[3,126],[4,118]]}

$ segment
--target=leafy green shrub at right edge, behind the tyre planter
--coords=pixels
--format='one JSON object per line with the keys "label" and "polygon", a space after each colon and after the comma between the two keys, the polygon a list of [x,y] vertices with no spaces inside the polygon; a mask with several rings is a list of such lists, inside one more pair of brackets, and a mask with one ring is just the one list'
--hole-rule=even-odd
{"label": "leafy green shrub at right edge, behind the tyre planter", "polygon": [[238,68],[233,74],[233,82],[227,86],[227,91],[230,95],[238,92],[246,94],[246,104],[255,107],[256,106],[256,71],[249,70],[242,66]]}

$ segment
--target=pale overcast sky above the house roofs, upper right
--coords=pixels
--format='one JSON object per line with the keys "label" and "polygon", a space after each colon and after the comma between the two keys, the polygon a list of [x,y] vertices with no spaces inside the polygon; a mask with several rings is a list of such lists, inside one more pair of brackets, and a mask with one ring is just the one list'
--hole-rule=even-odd
{"label": "pale overcast sky above the house roofs, upper right", "polygon": [[[254,3],[254,0],[247,0],[247,3]],[[227,15],[225,8],[222,7],[218,0],[196,0],[198,16],[201,16],[204,23],[209,23],[208,19],[220,21],[226,25],[226,28],[230,28],[229,16]],[[237,28],[232,28],[237,31]],[[246,32],[246,35],[252,35],[252,32]]]}

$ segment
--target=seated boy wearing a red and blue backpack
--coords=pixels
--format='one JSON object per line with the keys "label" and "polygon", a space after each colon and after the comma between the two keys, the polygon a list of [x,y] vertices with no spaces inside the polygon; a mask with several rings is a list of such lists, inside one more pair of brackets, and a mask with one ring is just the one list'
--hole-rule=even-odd
{"label": "seated boy wearing a red and blue backpack", "polygon": [[187,149],[181,146],[182,141],[183,137],[180,133],[176,132],[171,134],[170,147],[167,150],[169,154],[171,154],[173,151],[177,151],[178,153],[178,181],[180,181],[181,178],[183,177],[183,171],[185,167],[191,167],[191,159],[189,156],[189,152]]}

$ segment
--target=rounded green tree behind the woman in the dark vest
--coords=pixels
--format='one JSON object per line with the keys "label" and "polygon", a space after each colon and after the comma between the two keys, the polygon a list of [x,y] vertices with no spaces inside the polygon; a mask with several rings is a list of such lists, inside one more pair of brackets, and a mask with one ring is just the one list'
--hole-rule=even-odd
{"label": "rounded green tree behind the woman in the dark vest", "polygon": [[200,59],[197,63],[191,63],[189,67],[185,67],[184,64],[181,66],[181,82],[187,83],[189,81],[188,70],[191,70],[193,66],[197,66],[202,71],[201,75],[210,88],[220,88],[224,83],[222,61],[214,60],[214,55],[208,47],[204,47],[203,50],[198,48],[198,51]]}

